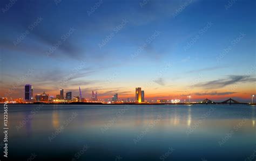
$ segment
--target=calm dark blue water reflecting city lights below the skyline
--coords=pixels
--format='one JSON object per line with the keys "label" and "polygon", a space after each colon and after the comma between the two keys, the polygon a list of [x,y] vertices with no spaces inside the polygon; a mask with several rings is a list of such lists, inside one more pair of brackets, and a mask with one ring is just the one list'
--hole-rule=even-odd
{"label": "calm dark blue water reflecting city lights below the skyline", "polygon": [[41,106],[9,104],[1,160],[256,159],[255,106]]}

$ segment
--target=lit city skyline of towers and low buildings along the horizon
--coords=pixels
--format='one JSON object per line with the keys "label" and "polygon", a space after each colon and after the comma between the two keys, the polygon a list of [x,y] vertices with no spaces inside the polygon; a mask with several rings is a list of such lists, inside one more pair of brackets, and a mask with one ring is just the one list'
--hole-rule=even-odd
{"label": "lit city skyline of towers and low buildings along the horizon", "polygon": [[[52,94],[48,94],[45,91],[43,92],[43,94],[35,94],[35,96],[33,95],[33,86],[31,84],[25,84],[24,85],[24,96],[23,97],[17,97],[17,98],[12,98],[12,97],[0,97],[0,99],[2,98],[3,100],[8,100],[8,101],[15,101],[18,100],[18,102],[20,101],[24,101],[24,102],[53,102],[53,100],[58,100],[58,102],[135,102],[135,103],[146,103],[146,102],[202,102],[202,101],[210,101],[212,102],[213,97],[206,97],[204,98],[204,100],[196,100],[193,98],[193,96],[191,95],[184,95],[182,97],[165,97],[165,96],[159,96],[158,99],[152,99],[151,97],[145,97],[145,92],[144,90],[142,90],[141,87],[136,87],[135,88],[135,95],[130,96],[130,97],[125,97],[125,96],[120,96],[118,97],[118,92],[114,92],[112,97],[101,97],[99,95],[98,98],[98,92],[94,92],[93,90],[91,91],[91,96],[89,97],[82,97],[82,90],[80,89],[79,86],[79,95],[73,95],[72,97],[72,91],[68,90],[68,92],[64,92],[64,89],[59,89],[59,93],[56,95],[52,95]],[[65,93],[65,96],[64,96]],[[56,97],[55,97],[56,96]],[[146,99],[145,99],[146,98]],[[228,97],[225,98],[225,101],[227,101]],[[233,97],[236,100],[239,101],[244,101],[244,102],[248,102],[248,100],[250,100],[251,102],[253,102],[254,99],[254,94],[250,95],[250,99],[245,100],[241,100],[239,97]],[[191,101],[191,99],[193,99],[193,101]],[[131,101],[130,101],[131,100]],[[208,100],[208,101],[207,101]],[[228,98],[228,100],[232,100],[231,97]],[[216,101],[224,101],[224,100],[214,100],[214,102]],[[234,100],[235,101],[235,100]],[[57,101],[56,101],[57,102]],[[166,102],[166,103],[167,103]],[[176,103],[178,103],[176,102]],[[236,101],[237,102],[237,101]],[[250,103],[250,102],[249,102]]]}

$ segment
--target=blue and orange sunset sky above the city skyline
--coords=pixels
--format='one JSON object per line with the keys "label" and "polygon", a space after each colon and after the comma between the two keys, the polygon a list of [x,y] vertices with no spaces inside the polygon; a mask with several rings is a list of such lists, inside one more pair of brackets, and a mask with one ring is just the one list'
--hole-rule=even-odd
{"label": "blue and orange sunset sky above the city skyline", "polygon": [[[1,1],[0,97],[256,94],[255,1]],[[24,99],[24,98],[23,98]]]}

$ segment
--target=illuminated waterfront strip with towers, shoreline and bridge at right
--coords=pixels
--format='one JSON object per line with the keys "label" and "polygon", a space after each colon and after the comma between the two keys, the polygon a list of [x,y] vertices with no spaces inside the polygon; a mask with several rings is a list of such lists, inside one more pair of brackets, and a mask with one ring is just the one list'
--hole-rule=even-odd
{"label": "illuminated waterfront strip with towers, shoreline and bridge at right", "polygon": [[[35,87],[35,86],[34,86]],[[145,92],[144,90],[142,90],[141,87],[137,87],[136,88],[136,92],[135,92],[135,100],[130,99],[129,97],[126,99],[122,98],[122,95],[118,95],[117,92],[113,93],[113,96],[110,99],[99,99],[98,98],[98,92],[94,92],[92,91],[92,96],[90,99],[86,99],[84,97],[82,97],[82,88],[78,88],[78,96],[72,96],[72,92],[66,92],[65,96],[64,96],[64,89],[59,89],[59,94],[55,96],[46,94],[45,92],[43,92],[42,94],[35,94],[35,97],[33,97],[33,86],[31,86],[30,84],[26,84],[25,85],[25,91],[24,91],[24,97],[25,99],[13,99],[13,100],[8,100],[7,97],[0,97],[0,102],[6,102],[9,101],[10,103],[36,103],[36,102],[42,102],[42,103],[76,103],[76,102],[80,102],[80,103],[102,103],[102,104],[124,104],[124,103],[129,103],[129,104],[197,104],[197,103],[212,103],[212,104],[218,104],[218,103],[242,103],[233,99],[228,99],[222,102],[215,102],[215,101],[211,101],[209,99],[205,99],[203,101],[198,100],[197,102],[191,102],[191,95],[187,95],[187,99],[186,100],[184,97],[181,99],[184,100],[184,102],[181,102],[180,99],[157,99],[157,100],[145,100]],[[100,95],[99,95],[100,96]],[[119,97],[120,96],[120,97]],[[169,95],[170,97],[170,95]],[[150,98],[149,98],[150,99]],[[254,95],[251,95],[251,102],[243,102],[243,104],[253,104],[253,99],[254,99]]]}

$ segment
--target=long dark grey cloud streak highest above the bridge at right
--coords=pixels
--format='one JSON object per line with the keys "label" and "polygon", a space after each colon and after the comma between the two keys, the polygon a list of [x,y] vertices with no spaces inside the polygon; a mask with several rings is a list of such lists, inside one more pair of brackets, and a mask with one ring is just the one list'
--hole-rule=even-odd
{"label": "long dark grey cloud streak highest above the bridge at right", "polygon": [[195,87],[203,88],[223,88],[228,85],[232,85],[237,82],[255,82],[256,78],[251,78],[249,75],[229,75],[227,78],[213,80],[208,82],[197,83]]}

